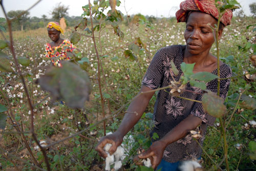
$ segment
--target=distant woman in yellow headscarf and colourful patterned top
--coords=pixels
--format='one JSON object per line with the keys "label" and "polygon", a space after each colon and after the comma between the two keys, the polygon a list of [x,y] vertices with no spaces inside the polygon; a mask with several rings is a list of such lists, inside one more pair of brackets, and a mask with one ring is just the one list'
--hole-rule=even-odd
{"label": "distant woman in yellow headscarf and colourful patterned top", "polygon": [[45,57],[50,58],[53,65],[61,66],[61,61],[70,60],[67,52],[73,52],[76,46],[69,40],[60,38],[60,33],[63,34],[63,30],[58,22],[49,22],[47,31],[52,42],[46,44]]}

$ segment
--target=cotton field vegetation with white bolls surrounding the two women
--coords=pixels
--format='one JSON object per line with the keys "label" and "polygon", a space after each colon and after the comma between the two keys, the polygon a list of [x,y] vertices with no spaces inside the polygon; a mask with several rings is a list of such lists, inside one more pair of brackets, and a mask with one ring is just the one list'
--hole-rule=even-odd
{"label": "cotton field vegetation with white bolls surrounding the two women", "polygon": [[[2,30],[1,39],[8,40],[10,47],[0,52],[0,168],[3,170],[104,170],[104,160],[94,150],[98,140],[118,128],[157,50],[185,44],[185,24],[177,23],[175,18],[154,18],[152,22],[139,17],[123,19],[118,11],[115,15],[102,13],[108,11],[108,6],[108,1],[84,6],[87,19],[77,23],[77,31],[69,28],[62,35],[72,39],[79,50],[69,54],[75,66],[55,70],[53,75],[49,71],[51,62],[44,57],[45,44],[50,42],[47,29],[14,31],[13,38],[11,30]],[[96,14],[93,25],[90,12]],[[205,170],[256,169],[255,28],[255,18],[233,17],[219,41],[220,59],[232,68],[233,76],[224,102],[226,114],[208,129],[209,136],[204,141],[201,164]],[[211,53],[217,56],[216,44]],[[90,81],[84,72],[80,75],[72,70],[77,66],[87,72]],[[54,79],[50,82],[49,78]],[[72,95],[83,92],[82,88],[74,88],[81,79],[91,82],[91,86],[86,85],[91,89],[90,95],[89,91],[86,94],[90,100],[71,108],[81,100],[74,98],[70,102]],[[52,94],[58,92],[55,96],[44,88],[51,83],[57,86],[50,88]],[[154,127],[156,96],[157,92],[139,123],[124,138],[126,151],[120,170],[152,170],[135,165],[132,159],[151,144],[149,134]]]}

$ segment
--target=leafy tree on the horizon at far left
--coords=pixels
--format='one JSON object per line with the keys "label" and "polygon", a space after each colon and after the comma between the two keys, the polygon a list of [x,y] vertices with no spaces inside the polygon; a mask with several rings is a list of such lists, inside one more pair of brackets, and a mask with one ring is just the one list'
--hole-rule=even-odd
{"label": "leafy tree on the horizon at far left", "polygon": [[[20,15],[22,13],[23,13],[23,15]],[[12,10],[12,11],[9,11],[7,13],[7,16],[10,19],[16,18],[12,22],[12,26],[13,26],[13,28],[15,30],[19,30],[18,28],[20,28],[21,31],[24,30],[24,25],[25,25],[26,21],[28,21],[30,19],[29,12],[28,11],[24,11],[24,10]]]}

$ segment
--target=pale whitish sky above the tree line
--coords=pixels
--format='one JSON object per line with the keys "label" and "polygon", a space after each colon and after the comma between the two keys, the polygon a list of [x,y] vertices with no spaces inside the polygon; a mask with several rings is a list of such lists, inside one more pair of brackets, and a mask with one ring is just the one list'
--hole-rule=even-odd
{"label": "pale whitish sky above the tree line", "polygon": [[[27,10],[37,0],[2,0],[6,12],[11,10]],[[124,15],[126,15],[125,8],[128,14],[133,15],[141,13],[142,15],[153,15],[156,17],[170,17],[175,16],[175,12],[178,10],[180,3],[184,0],[120,0],[121,5],[117,8]],[[250,16],[249,4],[256,3],[256,0],[237,0],[247,16]],[[36,16],[41,18],[42,15],[46,15],[51,18],[51,11],[60,3],[65,6],[69,6],[69,16],[80,16],[82,14],[82,6],[88,4],[88,0],[42,0],[30,12],[30,17]],[[93,3],[93,0],[91,0]],[[3,10],[0,10],[0,17],[4,17]]]}

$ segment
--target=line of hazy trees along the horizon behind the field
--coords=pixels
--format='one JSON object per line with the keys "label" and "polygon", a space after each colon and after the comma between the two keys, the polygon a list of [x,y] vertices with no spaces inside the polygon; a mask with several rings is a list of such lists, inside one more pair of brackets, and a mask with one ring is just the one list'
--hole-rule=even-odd
{"label": "line of hazy trees along the horizon behind the field", "polygon": [[[252,13],[252,16],[256,16],[256,3],[252,3],[249,5],[250,12]],[[62,5],[61,3],[57,4],[56,7],[53,8],[53,10],[50,12],[52,15],[52,18],[47,18],[46,15],[42,15],[41,18],[39,17],[30,17],[28,11],[24,10],[12,10],[7,13],[7,16],[14,21],[12,22],[12,29],[14,31],[24,31],[24,30],[35,30],[38,28],[45,28],[47,26],[47,23],[49,21],[59,21],[60,18],[65,17],[66,25],[67,26],[76,26],[77,21],[79,21],[82,17],[81,16],[68,16],[68,10],[69,7]],[[21,15],[22,14],[22,15]],[[244,17],[244,11],[240,10],[235,15],[239,17]],[[128,16],[130,17],[130,16]],[[124,23],[127,25],[127,16],[124,16]],[[139,20],[149,20],[150,22],[154,23],[154,21],[157,19],[154,16],[143,16],[142,14],[136,14],[132,15],[132,23],[137,23]],[[6,23],[2,23],[2,26],[7,28]]]}

